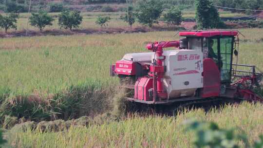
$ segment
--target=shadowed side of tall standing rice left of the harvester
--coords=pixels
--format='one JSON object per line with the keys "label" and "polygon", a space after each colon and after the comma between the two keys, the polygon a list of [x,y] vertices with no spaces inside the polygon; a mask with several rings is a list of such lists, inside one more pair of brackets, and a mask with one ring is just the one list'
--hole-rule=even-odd
{"label": "shadowed side of tall standing rice left of the harvester", "polygon": [[47,96],[35,92],[28,96],[8,97],[0,106],[0,123],[9,128],[11,123],[7,122],[7,117],[40,122],[95,116],[111,110],[112,93],[113,90],[84,85],[71,86],[68,91]]}

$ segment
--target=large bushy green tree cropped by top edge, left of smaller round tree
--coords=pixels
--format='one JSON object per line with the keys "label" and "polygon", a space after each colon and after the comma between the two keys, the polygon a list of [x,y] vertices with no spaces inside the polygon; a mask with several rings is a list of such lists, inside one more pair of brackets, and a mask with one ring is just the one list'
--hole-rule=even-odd
{"label": "large bushy green tree cropped by top edge, left of smaller round tree", "polygon": [[153,23],[158,23],[164,8],[161,0],[139,0],[139,12],[136,14],[140,23],[152,27]]}

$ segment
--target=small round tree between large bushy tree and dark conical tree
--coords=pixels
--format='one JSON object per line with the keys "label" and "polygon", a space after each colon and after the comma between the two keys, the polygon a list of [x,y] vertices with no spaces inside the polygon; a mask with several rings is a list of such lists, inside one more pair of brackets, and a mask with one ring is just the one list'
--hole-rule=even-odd
{"label": "small round tree between large bushy tree and dark conical tree", "polygon": [[164,14],[164,19],[169,25],[180,25],[183,21],[182,12],[176,7],[171,7],[166,14]]}

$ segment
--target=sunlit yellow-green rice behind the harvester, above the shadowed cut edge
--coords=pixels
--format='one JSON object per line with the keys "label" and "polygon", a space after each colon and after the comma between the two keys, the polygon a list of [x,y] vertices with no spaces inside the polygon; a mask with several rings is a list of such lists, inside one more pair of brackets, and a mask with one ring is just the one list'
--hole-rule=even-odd
{"label": "sunlit yellow-green rice behind the harvester, above the shadowed cut edge", "polygon": [[[262,29],[241,29],[240,63],[263,69]],[[0,94],[57,93],[72,85],[117,82],[109,65],[127,53],[148,52],[146,43],[176,40],[175,32],[16,37],[0,40]],[[243,42],[245,41],[245,42]]]}

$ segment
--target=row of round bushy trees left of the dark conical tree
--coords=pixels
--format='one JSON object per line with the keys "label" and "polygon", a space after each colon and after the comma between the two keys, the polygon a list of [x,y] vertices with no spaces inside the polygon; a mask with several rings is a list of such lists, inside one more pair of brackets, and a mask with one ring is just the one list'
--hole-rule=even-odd
{"label": "row of round bushy trees left of the dark conical tree", "polygon": [[[144,25],[152,27],[153,23],[158,23],[158,19],[160,18],[163,12],[163,3],[159,0],[142,0],[139,2],[139,12],[134,13],[132,11],[132,7],[128,9],[128,15],[121,16],[125,22],[128,22],[130,26],[135,22],[135,18]],[[18,15],[11,13],[8,16],[0,15],[0,27],[7,32],[8,29],[13,28],[17,29],[17,19]],[[110,17],[101,17],[99,16],[96,20],[96,24],[101,27],[106,27],[107,22],[110,20]],[[182,13],[176,7],[171,7],[165,14],[164,20],[168,25],[179,25],[183,20]],[[32,26],[38,27],[40,31],[46,26],[53,25],[54,18],[50,16],[46,11],[39,11],[38,13],[32,13],[30,17],[30,24]],[[73,28],[78,27],[82,22],[82,16],[79,11],[70,11],[63,10],[58,15],[58,25],[60,28],[70,29],[72,31]]]}

